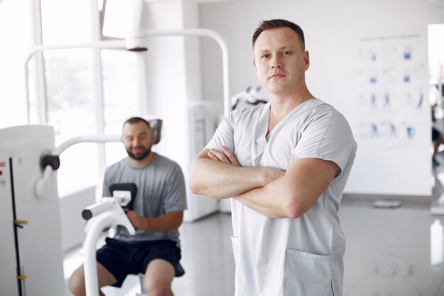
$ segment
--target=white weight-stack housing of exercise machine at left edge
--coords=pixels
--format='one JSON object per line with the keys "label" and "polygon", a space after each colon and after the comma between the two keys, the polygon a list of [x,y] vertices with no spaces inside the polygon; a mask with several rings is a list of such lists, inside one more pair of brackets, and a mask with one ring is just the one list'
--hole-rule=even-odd
{"label": "white weight-stack housing of exercise machine at left edge", "polygon": [[13,126],[0,138],[0,295],[65,295],[57,176],[35,190],[54,129]]}

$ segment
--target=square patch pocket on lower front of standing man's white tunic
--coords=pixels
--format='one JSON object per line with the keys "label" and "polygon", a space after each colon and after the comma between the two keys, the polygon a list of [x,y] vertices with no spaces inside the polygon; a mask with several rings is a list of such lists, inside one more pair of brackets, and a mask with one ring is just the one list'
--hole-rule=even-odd
{"label": "square patch pocket on lower front of standing man's white tunic", "polygon": [[287,249],[284,296],[333,296],[331,257]]}

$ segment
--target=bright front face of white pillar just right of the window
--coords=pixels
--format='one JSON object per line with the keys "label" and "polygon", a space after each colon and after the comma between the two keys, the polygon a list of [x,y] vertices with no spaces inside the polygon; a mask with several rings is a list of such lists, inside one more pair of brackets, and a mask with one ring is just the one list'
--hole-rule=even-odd
{"label": "bright front face of white pillar just right of the window", "polygon": [[[183,11],[180,2],[167,0],[149,3],[146,27],[182,29]],[[148,48],[148,110],[164,121],[162,140],[154,149],[183,163],[183,155],[174,153],[174,150],[186,149],[180,143],[187,143],[187,133],[178,132],[178,127],[186,122],[186,114],[183,112],[187,104],[184,38],[149,38]]]}

